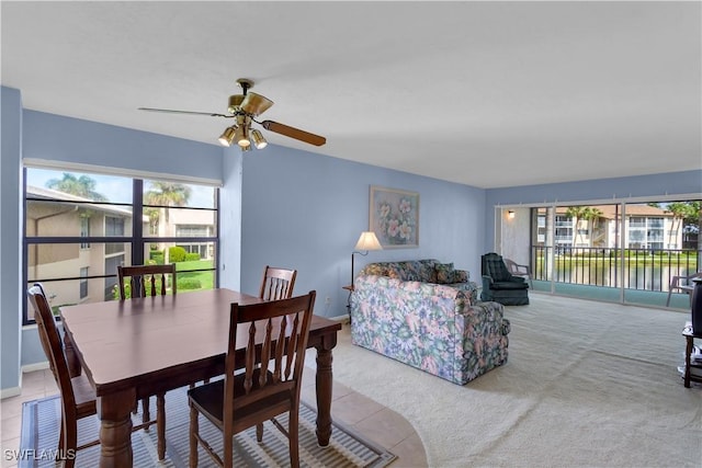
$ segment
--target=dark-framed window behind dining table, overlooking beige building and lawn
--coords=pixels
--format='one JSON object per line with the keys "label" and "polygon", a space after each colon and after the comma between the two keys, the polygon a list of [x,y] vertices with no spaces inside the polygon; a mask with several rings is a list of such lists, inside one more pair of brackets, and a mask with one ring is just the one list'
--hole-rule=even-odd
{"label": "dark-framed window behind dining table, overlooking beige building and lawn", "polygon": [[179,294],[216,287],[216,187],[38,168],[24,187],[24,282],[52,307],[118,298],[118,265],[176,263]]}

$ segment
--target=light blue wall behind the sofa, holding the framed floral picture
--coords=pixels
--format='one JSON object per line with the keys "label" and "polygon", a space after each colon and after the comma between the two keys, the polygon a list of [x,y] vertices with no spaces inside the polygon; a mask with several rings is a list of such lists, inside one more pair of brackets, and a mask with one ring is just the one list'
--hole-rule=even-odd
{"label": "light blue wall behind the sofa, holding the framed floral picture", "polygon": [[281,147],[245,153],[242,182],[246,293],[258,294],[263,265],[295,267],[295,290],[317,290],[316,313],[347,313],[341,287],[351,283],[351,252],[369,229],[371,185],[420,194],[419,248],[356,255],[355,273],[369,262],[426,258],[479,273],[483,190]]}

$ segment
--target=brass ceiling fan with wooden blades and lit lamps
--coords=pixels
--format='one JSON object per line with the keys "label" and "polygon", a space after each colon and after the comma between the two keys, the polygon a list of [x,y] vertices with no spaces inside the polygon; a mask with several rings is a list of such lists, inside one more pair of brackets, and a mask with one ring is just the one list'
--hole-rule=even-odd
{"label": "brass ceiling fan with wooden blades and lit lamps", "polygon": [[239,87],[241,87],[241,94],[233,94],[229,96],[229,105],[227,106],[227,114],[218,114],[215,112],[192,112],[192,111],[176,111],[170,109],[154,109],[154,107],[139,107],[139,111],[149,112],[166,112],[170,114],[192,114],[192,115],[208,115],[211,117],[225,117],[235,118],[236,123],[225,128],[224,133],[219,137],[219,142],[223,146],[230,146],[233,142],[241,148],[244,151],[251,149],[251,142],[257,149],[263,149],[268,146],[268,141],[260,130],[251,128],[251,123],[254,122],[261,125],[269,132],[284,135],[290,138],[294,138],[299,141],[307,142],[309,145],[321,146],[327,142],[325,137],[310,134],[309,132],[301,130],[299,128],[291,127],[288,125],[280,124],[273,121],[259,122],[254,117],[265,112],[273,105],[273,101],[270,99],[248,92],[253,88],[253,81],[239,78],[237,80]]}

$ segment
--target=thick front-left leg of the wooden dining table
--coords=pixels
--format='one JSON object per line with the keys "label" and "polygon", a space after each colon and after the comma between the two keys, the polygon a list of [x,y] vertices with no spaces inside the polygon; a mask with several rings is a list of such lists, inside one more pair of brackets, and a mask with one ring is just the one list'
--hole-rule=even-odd
{"label": "thick front-left leg of the wooden dining table", "polygon": [[132,408],[134,388],[98,397],[100,418],[100,468],[132,467]]}

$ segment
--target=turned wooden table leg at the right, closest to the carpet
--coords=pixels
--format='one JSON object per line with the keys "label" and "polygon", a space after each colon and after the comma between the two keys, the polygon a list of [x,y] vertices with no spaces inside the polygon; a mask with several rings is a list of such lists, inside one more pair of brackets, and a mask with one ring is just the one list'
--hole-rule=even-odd
{"label": "turned wooden table leg at the right, closest to the carpet", "polygon": [[331,372],[331,350],[337,345],[337,333],[321,338],[317,350],[317,443],[321,447],[329,445],[331,437],[331,396],[333,374]]}

